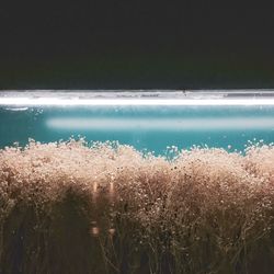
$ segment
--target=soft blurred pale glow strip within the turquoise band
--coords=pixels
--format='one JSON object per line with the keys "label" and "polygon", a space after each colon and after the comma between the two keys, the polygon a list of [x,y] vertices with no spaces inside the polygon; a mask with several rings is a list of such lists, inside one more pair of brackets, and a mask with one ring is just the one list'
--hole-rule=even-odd
{"label": "soft blurred pale glow strip within the turquoise band", "polygon": [[246,130],[273,129],[272,117],[204,117],[204,118],[68,118],[47,121],[47,126],[57,130]]}

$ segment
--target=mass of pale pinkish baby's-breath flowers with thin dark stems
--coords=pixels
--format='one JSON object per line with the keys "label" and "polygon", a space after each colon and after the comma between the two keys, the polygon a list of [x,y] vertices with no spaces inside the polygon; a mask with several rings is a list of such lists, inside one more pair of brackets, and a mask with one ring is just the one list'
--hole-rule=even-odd
{"label": "mass of pale pinkish baby's-breath flowers with thin dark stems", "polygon": [[0,150],[0,273],[273,273],[274,147],[170,153]]}

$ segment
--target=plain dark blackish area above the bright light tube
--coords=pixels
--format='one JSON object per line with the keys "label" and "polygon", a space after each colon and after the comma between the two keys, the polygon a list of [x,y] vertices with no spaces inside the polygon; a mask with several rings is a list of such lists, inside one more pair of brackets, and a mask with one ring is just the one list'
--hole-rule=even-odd
{"label": "plain dark blackish area above the bright light tube", "polygon": [[9,1],[0,28],[0,89],[274,87],[272,7]]}

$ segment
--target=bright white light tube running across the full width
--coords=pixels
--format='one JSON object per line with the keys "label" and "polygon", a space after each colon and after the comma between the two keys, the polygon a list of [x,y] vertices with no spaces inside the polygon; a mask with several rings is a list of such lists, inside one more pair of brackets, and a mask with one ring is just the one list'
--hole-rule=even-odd
{"label": "bright white light tube running across the full width", "polygon": [[1,105],[59,106],[59,105],[274,105],[267,99],[58,99],[58,98],[0,98]]}

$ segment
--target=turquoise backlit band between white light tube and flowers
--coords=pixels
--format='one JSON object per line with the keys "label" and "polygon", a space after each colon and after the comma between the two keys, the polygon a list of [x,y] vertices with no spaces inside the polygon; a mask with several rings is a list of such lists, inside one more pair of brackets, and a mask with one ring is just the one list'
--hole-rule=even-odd
{"label": "turquoise backlit band between white light tube and flowers", "polygon": [[193,145],[243,150],[248,140],[274,141],[273,105],[44,105],[1,106],[0,147],[71,136],[118,140],[164,153]]}

